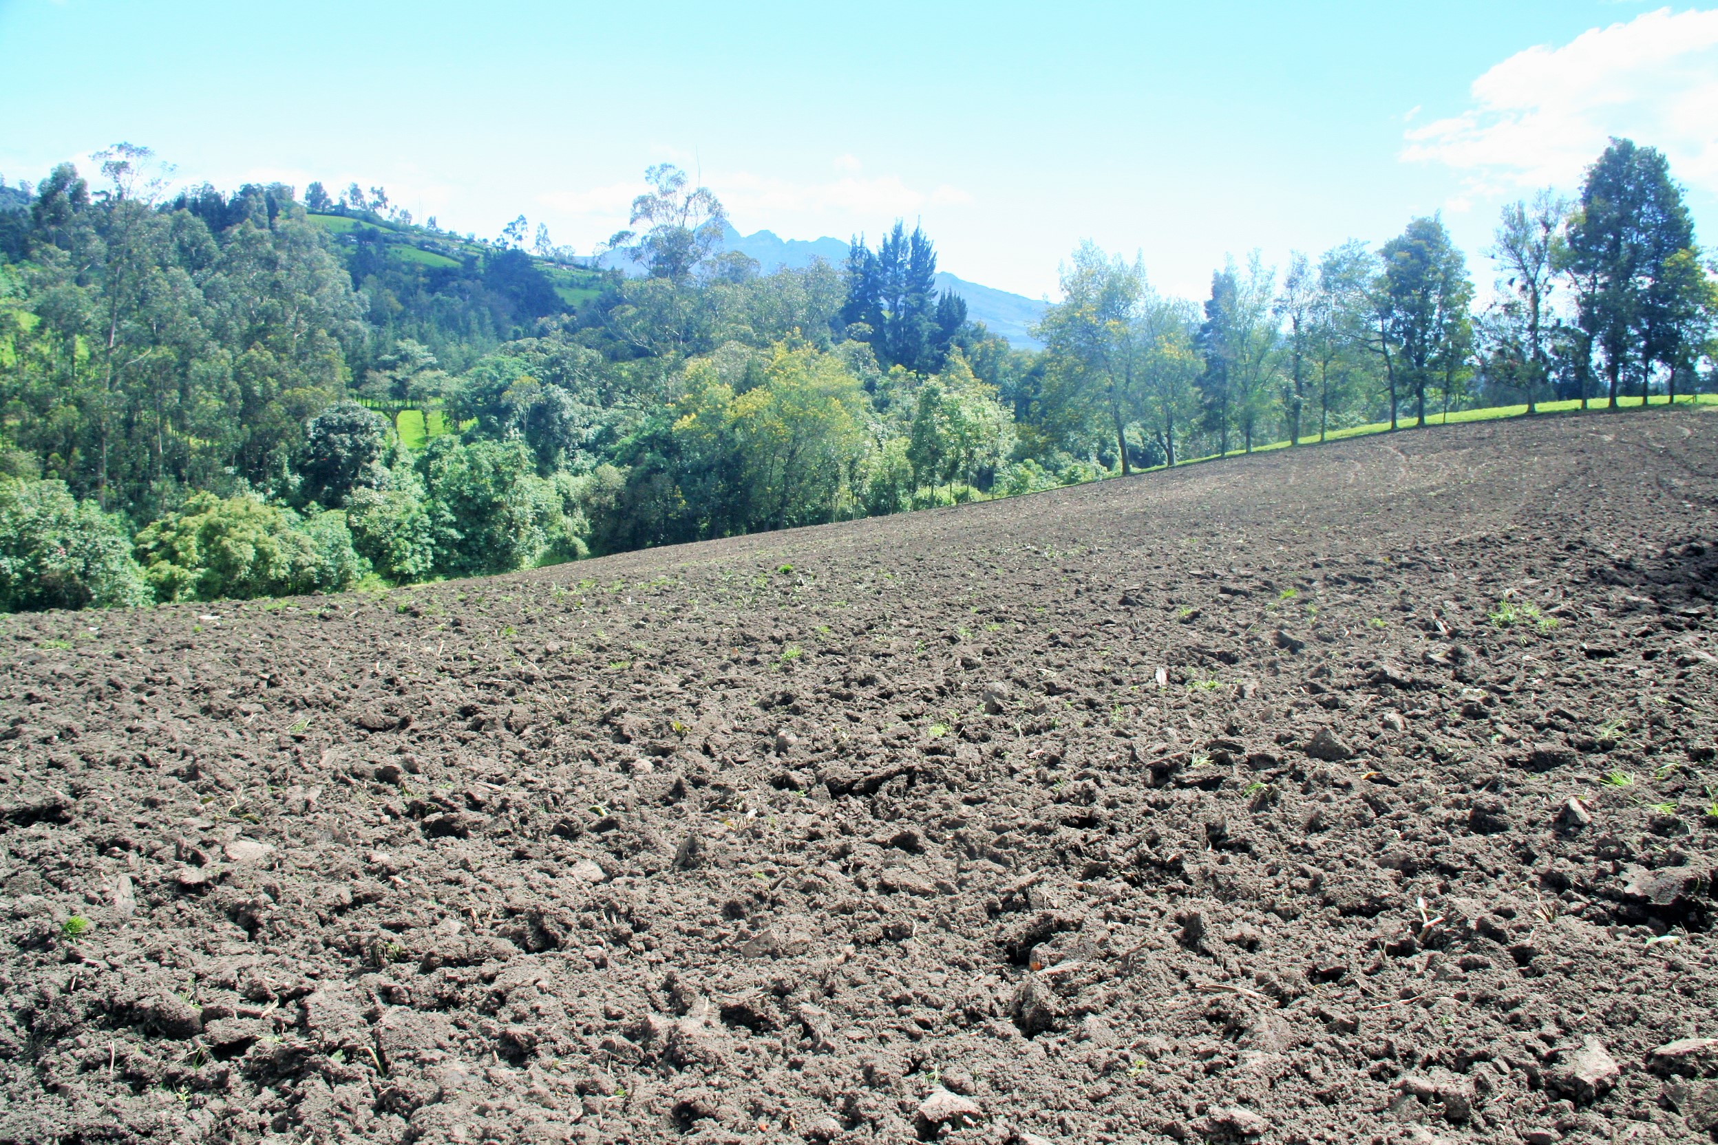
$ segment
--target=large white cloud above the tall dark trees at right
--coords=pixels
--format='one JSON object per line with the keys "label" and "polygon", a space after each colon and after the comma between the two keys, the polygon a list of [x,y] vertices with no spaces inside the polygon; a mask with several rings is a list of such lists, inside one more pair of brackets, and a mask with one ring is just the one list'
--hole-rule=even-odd
{"label": "large white cloud above the tall dark trees at right", "polygon": [[1527,48],[1471,91],[1469,110],[1405,132],[1402,158],[1467,172],[1476,192],[1569,187],[1610,136],[1627,136],[1718,192],[1718,10],[1661,9]]}

